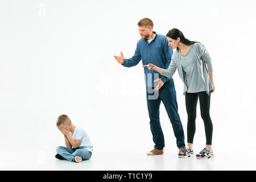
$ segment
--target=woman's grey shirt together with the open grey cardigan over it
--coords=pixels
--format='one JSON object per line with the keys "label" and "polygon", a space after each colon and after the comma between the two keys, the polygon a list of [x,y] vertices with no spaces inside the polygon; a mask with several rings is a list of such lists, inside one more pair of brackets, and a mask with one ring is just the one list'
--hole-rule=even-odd
{"label": "woman's grey shirt together with the open grey cardigan over it", "polygon": [[210,90],[213,90],[208,73],[208,71],[213,71],[212,60],[202,44],[192,44],[185,56],[180,55],[180,50],[174,52],[168,69],[163,69],[161,75],[172,77],[176,69],[184,82],[183,94],[206,91],[209,95]]}

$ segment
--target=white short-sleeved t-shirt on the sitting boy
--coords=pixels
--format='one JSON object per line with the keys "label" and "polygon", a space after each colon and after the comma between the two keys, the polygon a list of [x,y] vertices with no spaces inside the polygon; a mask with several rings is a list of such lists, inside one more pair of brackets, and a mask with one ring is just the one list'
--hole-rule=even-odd
{"label": "white short-sleeved t-shirt on the sitting boy", "polygon": [[93,145],[92,143],[90,143],[90,138],[85,132],[85,130],[82,129],[81,127],[77,127],[77,126],[75,127],[72,138],[74,140],[81,140],[79,147],[86,148],[90,152],[93,151]]}

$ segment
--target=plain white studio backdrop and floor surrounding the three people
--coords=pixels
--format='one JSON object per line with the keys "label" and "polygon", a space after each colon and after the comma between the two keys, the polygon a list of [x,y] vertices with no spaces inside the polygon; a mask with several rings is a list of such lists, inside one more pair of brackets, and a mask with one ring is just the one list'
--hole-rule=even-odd
{"label": "plain white studio backdrop and floor surrounding the three people", "polygon": [[[255,5],[251,1],[1,1],[0,169],[256,169]],[[212,57],[216,91],[210,114],[216,158],[178,159],[163,104],[163,156],[154,143],[142,61],[132,68],[114,55],[133,56],[137,23],[154,22],[166,35],[178,28]],[[187,142],[183,83],[174,75]],[[199,104],[194,151],[205,145]],[[67,114],[94,145],[81,164],[54,158],[64,146],[56,119]],[[79,166],[80,165],[80,166]]]}

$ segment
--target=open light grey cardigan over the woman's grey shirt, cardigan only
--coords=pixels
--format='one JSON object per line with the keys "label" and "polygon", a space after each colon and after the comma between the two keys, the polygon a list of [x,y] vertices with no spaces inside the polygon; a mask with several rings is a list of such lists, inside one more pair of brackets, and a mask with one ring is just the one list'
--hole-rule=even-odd
{"label": "open light grey cardigan over the woman's grey shirt, cardigan only", "polygon": [[[202,44],[195,43],[194,46],[191,46],[191,49],[197,57],[197,69],[199,71],[200,77],[204,81],[204,85],[202,85],[202,87],[204,86],[204,88],[207,90],[207,94],[209,95],[210,90],[213,90],[213,84],[210,80],[208,73],[208,71],[213,71],[212,60],[210,59],[209,53]],[[185,72],[183,72],[183,69],[181,67],[180,50],[174,52],[168,69],[163,69],[163,73],[160,75],[172,77],[176,69],[179,73],[181,80],[184,83],[183,94],[185,94],[185,92],[187,91],[187,83],[185,82]]]}

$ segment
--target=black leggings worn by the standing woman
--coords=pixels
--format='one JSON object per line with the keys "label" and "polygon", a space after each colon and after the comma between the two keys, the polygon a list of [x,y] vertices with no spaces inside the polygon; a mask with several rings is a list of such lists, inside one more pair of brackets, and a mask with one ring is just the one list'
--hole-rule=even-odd
{"label": "black leggings worn by the standing woman", "polygon": [[196,132],[196,105],[199,98],[201,117],[204,120],[206,144],[212,144],[212,120],[210,119],[210,95],[207,92],[185,93],[186,109],[188,114],[188,143],[193,143]]}

